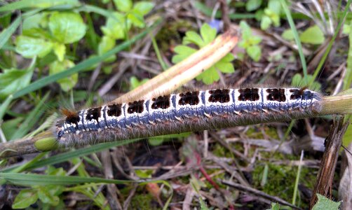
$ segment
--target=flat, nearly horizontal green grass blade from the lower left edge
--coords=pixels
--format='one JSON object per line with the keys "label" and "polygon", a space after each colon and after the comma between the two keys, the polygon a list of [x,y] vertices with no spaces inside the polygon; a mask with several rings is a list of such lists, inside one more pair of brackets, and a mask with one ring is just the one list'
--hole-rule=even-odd
{"label": "flat, nearly horizontal green grass blade from the lower left edge", "polygon": [[6,180],[14,184],[25,186],[48,186],[48,185],[74,185],[81,183],[132,183],[130,180],[102,179],[97,177],[82,176],[54,176],[43,174],[22,174],[22,173],[0,173],[0,181]]}

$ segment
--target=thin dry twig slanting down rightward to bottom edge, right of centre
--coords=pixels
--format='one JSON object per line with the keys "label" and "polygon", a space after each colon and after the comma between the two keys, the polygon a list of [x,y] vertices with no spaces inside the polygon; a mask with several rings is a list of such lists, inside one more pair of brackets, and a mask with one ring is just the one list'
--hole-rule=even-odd
{"label": "thin dry twig slanting down rightward to bottom edge, right of centre", "polygon": [[255,188],[251,188],[251,187],[248,187],[248,186],[243,186],[243,185],[241,185],[239,183],[234,183],[232,181],[226,181],[226,180],[220,180],[220,181],[221,181],[221,183],[223,183],[226,186],[230,186],[230,187],[236,188],[238,190],[243,190],[243,191],[245,191],[247,193],[250,193],[252,195],[256,195],[258,197],[263,197],[264,199],[271,200],[272,202],[278,202],[279,204],[282,204],[282,205],[285,205],[285,206],[288,206],[288,207],[292,207],[294,209],[299,209],[299,207],[296,207],[295,205],[292,205],[289,202],[286,202],[285,200],[280,199],[280,197],[275,197],[275,196],[268,195],[268,194],[263,193],[262,191],[257,190]]}

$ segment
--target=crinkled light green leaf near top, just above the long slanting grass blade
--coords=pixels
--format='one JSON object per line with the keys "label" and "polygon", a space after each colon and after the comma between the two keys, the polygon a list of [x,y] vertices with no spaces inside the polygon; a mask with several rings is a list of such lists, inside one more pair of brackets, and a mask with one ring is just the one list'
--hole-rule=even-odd
{"label": "crinkled light green leaf near top, just above the long slanting grass blade", "polygon": [[113,15],[114,18],[107,18],[107,23],[101,27],[103,34],[114,39],[125,38],[126,31],[130,29],[130,21],[127,21],[121,13],[113,13]]}

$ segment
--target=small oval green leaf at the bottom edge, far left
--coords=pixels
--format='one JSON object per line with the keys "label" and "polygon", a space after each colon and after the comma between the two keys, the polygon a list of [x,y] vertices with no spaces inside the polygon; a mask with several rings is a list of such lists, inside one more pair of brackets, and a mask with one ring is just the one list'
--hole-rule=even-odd
{"label": "small oval green leaf at the bottom edge, far left", "polygon": [[33,189],[24,189],[15,198],[12,204],[13,209],[25,209],[38,200],[38,194]]}

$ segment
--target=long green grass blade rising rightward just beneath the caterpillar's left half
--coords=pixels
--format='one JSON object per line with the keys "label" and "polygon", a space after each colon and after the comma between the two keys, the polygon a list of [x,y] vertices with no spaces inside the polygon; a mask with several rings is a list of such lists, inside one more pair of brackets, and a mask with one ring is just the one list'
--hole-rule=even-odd
{"label": "long green grass blade rising rightward just beneath the caterpillar's left half", "polygon": [[[39,160],[38,162],[36,162],[33,165],[30,165],[29,167],[26,167],[24,169],[31,170],[31,169],[36,169],[39,167],[44,167],[46,165],[54,165],[59,162],[72,160],[72,158],[79,158],[84,155],[89,155],[91,153],[97,153],[100,151],[104,151],[104,150],[111,148],[111,147],[123,146],[123,145],[131,144],[135,141],[140,141],[140,140],[141,139],[129,139],[129,140],[125,140],[125,141],[115,141],[115,142],[104,143],[104,144],[96,144],[96,145],[90,146],[88,148],[81,148],[76,151],[69,151],[67,153],[61,153],[59,155],[51,156],[50,158]],[[12,172],[13,169],[15,169],[15,167],[0,170],[0,172]]]}

